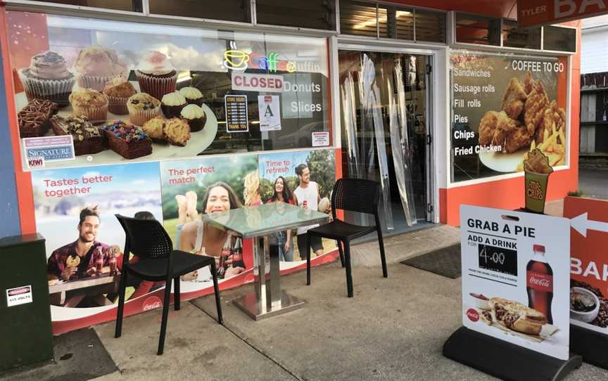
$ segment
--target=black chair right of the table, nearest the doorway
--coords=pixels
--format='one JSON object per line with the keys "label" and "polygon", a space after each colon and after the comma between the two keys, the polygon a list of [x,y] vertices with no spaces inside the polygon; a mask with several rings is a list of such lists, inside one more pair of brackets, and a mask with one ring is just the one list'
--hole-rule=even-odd
{"label": "black chair right of the table, nearest the doorway", "polygon": [[[388,277],[386,272],[386,257],[384,256],[384,242],[378,216],[378,200],[380,187],[376,181],[364,179],[338,179],[331,193],[331,214],[334,221],[329,224],[312,228],[306,235],[307,247],[311,235],[338,240],[338,250],[342,267],[346,266],[346,290],[348,297],[353,297],[353,276],[350,271],[350,241],[363,235],[376,231],[380,245],[380,259],[382,261],[382,275]],[[359,226],[348,224],[336,218],[336,209],[344,211],[374,214],[374,226]],[[344,243],[342,250],[341,242]],[[310,250],[306,254],[306,285],[310,285]]]}

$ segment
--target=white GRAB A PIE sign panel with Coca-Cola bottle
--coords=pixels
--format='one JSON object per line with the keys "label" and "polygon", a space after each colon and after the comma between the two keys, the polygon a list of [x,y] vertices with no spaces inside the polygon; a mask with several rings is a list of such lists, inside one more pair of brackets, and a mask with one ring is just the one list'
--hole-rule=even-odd
{"label": "white GRAB A PIE sign panel with Coca-Cola bottle", "polygon": [[460,227],[464,326],[568,359],[569,219],[462,205]]}

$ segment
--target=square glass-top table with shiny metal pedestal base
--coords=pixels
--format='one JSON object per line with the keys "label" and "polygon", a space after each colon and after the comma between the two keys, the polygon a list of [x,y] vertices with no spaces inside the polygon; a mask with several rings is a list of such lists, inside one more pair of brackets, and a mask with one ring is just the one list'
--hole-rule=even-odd
{"label": "square glass-top table with shiny metal pedestal base", "polygon": [[274,233],[324,224],[328,215],[285,202],[240,207],[226,212],[203,214],[203,221],[230,235],[253,238],[253,285],[251,292],[234,304],[251,318],[260,320],[300,308],[304,302],[281,291],[279,250]]}

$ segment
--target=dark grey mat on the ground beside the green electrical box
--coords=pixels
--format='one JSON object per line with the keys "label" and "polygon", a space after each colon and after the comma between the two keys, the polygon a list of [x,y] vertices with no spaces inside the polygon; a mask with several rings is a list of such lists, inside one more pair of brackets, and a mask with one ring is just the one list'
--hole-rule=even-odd
{"label": "dark grey mat on the ground beside the green electrical box", "polygon": [[0,380],[84,381],[118,370],[93,328],[53,337],[53,352],[55,361],[8,370]]}

